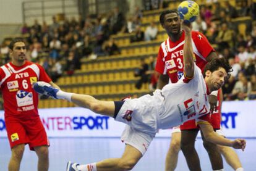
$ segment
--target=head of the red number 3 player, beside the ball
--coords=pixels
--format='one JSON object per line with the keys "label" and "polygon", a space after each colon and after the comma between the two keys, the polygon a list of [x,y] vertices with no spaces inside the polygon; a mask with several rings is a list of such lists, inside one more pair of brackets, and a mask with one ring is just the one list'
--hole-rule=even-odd
{"label": "head of the red number 3 player, beside the ball", "polygon": [[160,15],[160,23],[168,35],[176,35],[181,31],[181,19],[177,10],[164,10]]}

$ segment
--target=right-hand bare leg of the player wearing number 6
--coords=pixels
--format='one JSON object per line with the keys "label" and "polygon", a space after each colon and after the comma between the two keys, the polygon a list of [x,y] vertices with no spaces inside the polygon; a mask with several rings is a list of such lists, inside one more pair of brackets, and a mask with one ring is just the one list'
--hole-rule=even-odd
{"label": "right-hand bare leg of the player wearing number 6", "polygon": [[35,147],[38,156],[38,171],[47,171],[49,169],[49,151],[48,146]]}

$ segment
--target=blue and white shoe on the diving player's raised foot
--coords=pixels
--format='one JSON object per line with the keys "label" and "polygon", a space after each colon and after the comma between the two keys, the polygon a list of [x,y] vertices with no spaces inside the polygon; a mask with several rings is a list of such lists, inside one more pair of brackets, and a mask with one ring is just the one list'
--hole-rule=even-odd
{"label": "blue and white shoe on the diving player's raised foot", "polygon": [[46,83],[44,81],[38,81],[33,84],[33,88],[37,93],[46,94],[54,99],[58,99],[56,94],[59,91],[59,89],[54,88],[49,83]]}

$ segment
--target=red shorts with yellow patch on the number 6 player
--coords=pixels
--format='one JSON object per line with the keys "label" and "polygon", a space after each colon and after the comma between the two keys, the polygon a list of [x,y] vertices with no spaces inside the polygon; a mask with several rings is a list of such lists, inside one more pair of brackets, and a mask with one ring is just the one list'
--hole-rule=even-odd
{"label": "red shorts with yellow patch on the number 6 player", "polygon": [[49,146],[40,117],[28,120],[8,118],[5,122],[11,148],[18,144],[28,144],[30,150],[36,146]]}

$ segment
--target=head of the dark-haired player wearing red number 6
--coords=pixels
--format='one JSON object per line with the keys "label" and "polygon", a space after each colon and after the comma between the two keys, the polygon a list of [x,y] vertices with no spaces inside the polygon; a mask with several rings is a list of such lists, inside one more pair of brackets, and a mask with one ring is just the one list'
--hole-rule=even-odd
{"label": "head of the dark-haired player wearing red number 6", "polygon": [[26,59],[27,47],[22,38],[14,38],[9,44],[12,60],[23,62]]}

